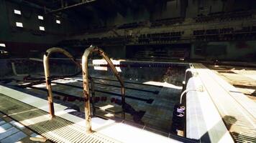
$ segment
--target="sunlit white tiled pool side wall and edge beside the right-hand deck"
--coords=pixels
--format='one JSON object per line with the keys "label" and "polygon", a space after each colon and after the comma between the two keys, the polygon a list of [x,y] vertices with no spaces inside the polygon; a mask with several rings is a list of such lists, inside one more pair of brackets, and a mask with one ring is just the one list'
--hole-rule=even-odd
{"label": "sunlit white tiled pool side wall and edge beside the right-hand deck", "polygon": [[[202,85],[200,78],[191,77],[186,88],[196,89]],[[187,137],[208,142],[208,140],[204,140],[204,136],[209,134],[211,142],[233,142],[205,87],[204,92],[188,92],[186,100]]]}

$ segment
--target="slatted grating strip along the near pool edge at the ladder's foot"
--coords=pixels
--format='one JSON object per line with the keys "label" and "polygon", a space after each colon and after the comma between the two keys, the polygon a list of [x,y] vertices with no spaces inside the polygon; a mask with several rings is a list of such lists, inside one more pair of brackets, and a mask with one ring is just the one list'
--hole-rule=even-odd
{"label": "slatted grating strip along the near pool edge at the ladder's foot", "polygon": [[52,142],[119,142],[98,132],[85,133],[85,127],[0,94],[0,111]]}

